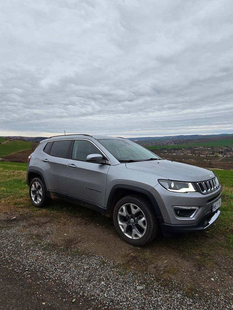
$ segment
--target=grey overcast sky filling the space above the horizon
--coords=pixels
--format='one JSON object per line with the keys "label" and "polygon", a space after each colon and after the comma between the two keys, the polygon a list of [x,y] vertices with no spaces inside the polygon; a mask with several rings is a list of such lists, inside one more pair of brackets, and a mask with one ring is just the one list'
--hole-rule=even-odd
{"label": "grey overcast sky filling the space above the horizon", "polygon": [[232,0],[0,4],[0,135],[233,132]]}

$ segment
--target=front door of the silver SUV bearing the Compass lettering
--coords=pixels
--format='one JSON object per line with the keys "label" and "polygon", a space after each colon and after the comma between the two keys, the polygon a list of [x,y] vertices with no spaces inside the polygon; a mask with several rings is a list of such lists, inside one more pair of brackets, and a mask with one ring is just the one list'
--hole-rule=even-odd
{"label": "front door of the silver SUV bearing the Compass lettering", "polygon": [[107,159],[92,141],[74,140],[66,162],[67,196],[104,207],[109,165],[87,162],[90,154],[101,154]]}

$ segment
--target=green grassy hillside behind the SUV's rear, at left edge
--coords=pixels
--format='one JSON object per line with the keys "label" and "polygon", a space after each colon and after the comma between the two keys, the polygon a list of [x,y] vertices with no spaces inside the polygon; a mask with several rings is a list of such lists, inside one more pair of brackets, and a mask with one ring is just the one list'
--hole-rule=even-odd
{"label": "green grassy hillside behind the SUV's rear, at left edge", "polygon": [[0,144],[0,157],[30,149],[32,146],[37,146],[37,143],[21,140],[7,141],[6,143]]}

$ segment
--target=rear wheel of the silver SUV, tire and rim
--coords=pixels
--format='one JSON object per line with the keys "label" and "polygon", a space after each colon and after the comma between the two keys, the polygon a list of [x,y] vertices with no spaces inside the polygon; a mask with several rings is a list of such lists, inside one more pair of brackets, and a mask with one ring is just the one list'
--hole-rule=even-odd
{"label": "rear wheel of the silver SUV, tire and rim", "polygon": [[47,206],[51,198],[47,196],[45,186],[40,178],[32,179],[29,186],[31,203],[38,208]]}

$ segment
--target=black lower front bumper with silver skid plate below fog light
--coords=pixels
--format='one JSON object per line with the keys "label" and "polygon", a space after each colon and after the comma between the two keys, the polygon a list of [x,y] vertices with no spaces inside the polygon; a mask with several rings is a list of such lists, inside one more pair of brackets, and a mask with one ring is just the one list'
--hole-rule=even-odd
{"label": "black lower front bumper with silver skid plate below fog light", "polygon": [[183,225],[183,224],[174,225],[174,224],[162,223],[161,229],[165,235],[167,233],[172,233],[172,232],[176,232],[176,233],[200,232],[210,227],[217,220],[220,213],[221,213],[220,210],[217,210],[214,213],[208,212],[208,214],[206,214],[206,217],[199,220],[198,223],[189,224],[189,225]]}

